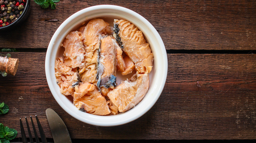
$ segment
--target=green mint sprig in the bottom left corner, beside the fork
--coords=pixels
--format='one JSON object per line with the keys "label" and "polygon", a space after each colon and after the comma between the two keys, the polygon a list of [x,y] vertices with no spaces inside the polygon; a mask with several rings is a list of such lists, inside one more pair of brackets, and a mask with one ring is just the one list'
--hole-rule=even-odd
{"label": "green mint sprig in the bottom left corner, beside the fork", "polygon": [[0,143],[10,143],[17,136],[17,131],[0,123]]}

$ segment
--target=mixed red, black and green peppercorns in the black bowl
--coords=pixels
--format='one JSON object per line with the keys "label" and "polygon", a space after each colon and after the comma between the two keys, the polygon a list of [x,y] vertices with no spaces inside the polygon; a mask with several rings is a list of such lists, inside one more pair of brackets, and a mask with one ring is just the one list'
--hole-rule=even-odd
{"label": "mixed red, black and green peppercorns in the black bowl", "polygon": [[0,27],[16,21],[22,14],[27,0],[0,0]]}

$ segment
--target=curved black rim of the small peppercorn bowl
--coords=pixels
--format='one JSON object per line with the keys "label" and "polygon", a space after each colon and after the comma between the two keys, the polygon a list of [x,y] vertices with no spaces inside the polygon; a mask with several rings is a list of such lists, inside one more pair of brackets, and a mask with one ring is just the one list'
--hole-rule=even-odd
{"label": "curved black rim of the small peppercorn bowl", "polygon": [[11,23],[7,26],[4,26],[4,27],[0,27],[0,30],[4,31],[4,30],[11,28],[12,26],[22,23],[22,21],[25,20],[24,18],[26,18],[27,12],[29,12],[29,8],[30,8],[30,0],[27,0],[26,6],[25,6],[22,14],[20,15],[20,17],[17,20],[15,20],[13,23]]}

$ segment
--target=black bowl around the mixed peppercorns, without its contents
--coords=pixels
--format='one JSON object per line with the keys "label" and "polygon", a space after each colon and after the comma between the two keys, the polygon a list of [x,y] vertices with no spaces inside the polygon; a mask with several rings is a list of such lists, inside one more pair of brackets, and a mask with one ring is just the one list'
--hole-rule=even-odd
{"label": "black bowl around the mixed peppercorns, without its contents", "polygon": [[0,31],[11,30],[11,29],[14,29],[15,27],[18,27],[18,25],[23,23],[28,18],[29,13],[30,13],[30,0],[27,0],[26,6],[22,14],[20,15],[20,17],[17,20],[15,20],[13,23],[4,27],[0,27]]}

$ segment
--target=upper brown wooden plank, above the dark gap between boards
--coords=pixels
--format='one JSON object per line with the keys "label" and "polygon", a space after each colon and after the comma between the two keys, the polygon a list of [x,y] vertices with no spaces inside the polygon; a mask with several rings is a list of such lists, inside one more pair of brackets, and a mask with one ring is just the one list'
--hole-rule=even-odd
{"label": "upper brown wooden plank, above the dark gap between boards", "polygon": [[[0,34],[0,48],[47,48],[58,26],[75,12],[94,5],[129,8],[159,32],[166,49],[255,50],[256,3],[253,0],[61,0],[56,9],[31,2],[27,21]],[[46,22],[57,19],[58,22]]]}

